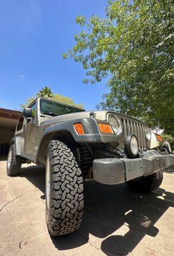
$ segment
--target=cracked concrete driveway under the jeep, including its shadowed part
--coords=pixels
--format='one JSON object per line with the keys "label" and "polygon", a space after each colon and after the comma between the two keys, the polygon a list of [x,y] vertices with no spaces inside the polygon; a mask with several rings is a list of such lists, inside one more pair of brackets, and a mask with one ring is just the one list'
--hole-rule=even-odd
{"label": "cracked concrete driveway under the jeep, including its shadowed part", "polygon": [[45,170],[25,164],[6,176],[0,162],[0,255],[174,255],[174,174],[149,195],[124,184],[85,184],[82,227],[50,237],[45,223]]}

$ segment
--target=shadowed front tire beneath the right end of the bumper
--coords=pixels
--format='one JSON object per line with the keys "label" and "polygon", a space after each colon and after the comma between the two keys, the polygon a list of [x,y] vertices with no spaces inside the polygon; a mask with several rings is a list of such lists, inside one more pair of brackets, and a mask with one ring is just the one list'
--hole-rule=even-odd
{"label": "shadowed front tire beneath the right end of the bumper", "polygon": [[163,181],[163,170],[159,170],[146,177],[141,177],[138,180],[129,180],[127,186],[133,191],[140,193],[149,193],[161,185]]}

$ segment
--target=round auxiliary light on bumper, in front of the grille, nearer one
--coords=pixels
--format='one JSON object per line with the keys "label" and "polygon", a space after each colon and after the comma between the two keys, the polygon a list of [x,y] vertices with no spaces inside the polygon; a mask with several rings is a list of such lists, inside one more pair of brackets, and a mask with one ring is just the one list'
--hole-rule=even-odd
{"label": "round auxiliary light on bumper, in front of the grille, nearer one", "polygon": [[125,152],[127,156],[138,155],[138,140],[135,135],[128,135],[125,141]]}

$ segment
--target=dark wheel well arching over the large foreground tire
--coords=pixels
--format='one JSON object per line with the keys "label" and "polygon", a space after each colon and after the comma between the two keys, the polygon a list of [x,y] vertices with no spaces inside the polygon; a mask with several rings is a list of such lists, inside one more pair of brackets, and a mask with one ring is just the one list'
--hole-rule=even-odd
{"label": "dark wheel well arching over the large foreground tire", "polygon": [[46,161],[47,157],[47,149],[48,149],[48,143],[51,140],[60,140],[68,145],[75,145],[76,142],[72,136],[72,134],[68,131],[60,131],[60,132],[52,132],[48,133],[43,140],[41,141],[41,144],[38,148],[38,154],[36,156],[36,163],[44,163]]}

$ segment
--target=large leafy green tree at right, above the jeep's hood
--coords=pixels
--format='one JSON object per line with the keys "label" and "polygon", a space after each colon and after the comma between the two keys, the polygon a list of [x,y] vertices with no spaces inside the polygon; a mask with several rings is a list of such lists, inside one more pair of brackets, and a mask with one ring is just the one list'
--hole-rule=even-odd
{"label": "large leafy green tree at right, above the jeep's hood", "polygon": [[109,77],[98,105],[174,134],[173,0],[108,1],[106,18],[77,17],[84,29],[63,54],[82,63],[84,83]]}

